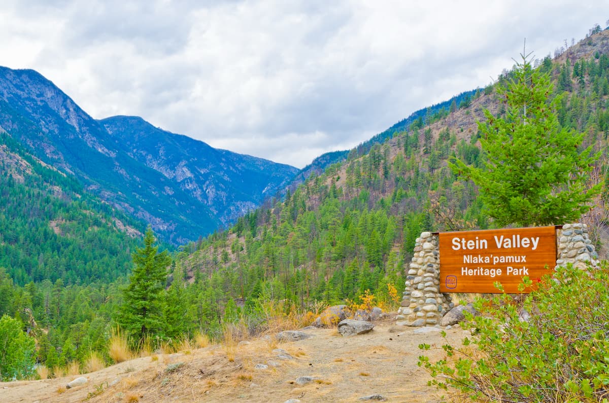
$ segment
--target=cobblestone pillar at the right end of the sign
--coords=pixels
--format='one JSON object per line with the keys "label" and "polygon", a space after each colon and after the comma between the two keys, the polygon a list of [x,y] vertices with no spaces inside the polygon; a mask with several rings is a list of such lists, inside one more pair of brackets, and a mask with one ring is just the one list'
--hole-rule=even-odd
{"label": "cobblestone pillar at the right end of the sign", "polygon": [[557,234],[558,259],[556,267],[571,263],[577,268],[588,264],[596,267],[599,255],[588,237],[588,226],[582,223],[565,224]]}

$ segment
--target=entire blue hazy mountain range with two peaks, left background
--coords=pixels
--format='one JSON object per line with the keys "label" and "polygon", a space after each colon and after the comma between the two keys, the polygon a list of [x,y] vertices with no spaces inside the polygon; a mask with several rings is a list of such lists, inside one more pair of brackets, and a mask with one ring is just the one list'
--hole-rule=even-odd
{"label": "entire blue hazy mountain range with two peaks, left background", "polygon": [[227,225],[298,171],[213,149],[136,117],[96,121],[33,70],[0,68],[0,127],[174,244]]}

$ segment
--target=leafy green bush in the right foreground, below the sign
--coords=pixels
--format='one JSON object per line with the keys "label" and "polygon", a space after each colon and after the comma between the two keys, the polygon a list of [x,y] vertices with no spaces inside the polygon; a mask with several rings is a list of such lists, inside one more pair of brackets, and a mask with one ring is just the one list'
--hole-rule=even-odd
{"label": "leafy green bush in the right foreground, below the sign", "polygon": [[[521,290],[532,287],[525,278]],[[609,401],[609,264],[559,268],[521,301],[510,295],[476,300],[480,316],[463,346],[419,365],[430,385],[493,402]],[[530,313],[530,314],[529,314]],[[420,345],[429,349],[429,345]],[[452,393],[451,393],[452,394]]]}

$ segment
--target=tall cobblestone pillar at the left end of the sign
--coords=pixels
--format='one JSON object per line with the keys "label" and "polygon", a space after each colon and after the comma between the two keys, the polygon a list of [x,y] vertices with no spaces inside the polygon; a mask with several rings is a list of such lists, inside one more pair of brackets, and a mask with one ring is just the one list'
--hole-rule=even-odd
{"label": "tall cobblestone pillar at the left end of the sign", "polygon": [[448,294],[440,293],[438,236],[429,232],[421,233],[416,240],[414,252],[396,324],[435,325],[454,306]]}

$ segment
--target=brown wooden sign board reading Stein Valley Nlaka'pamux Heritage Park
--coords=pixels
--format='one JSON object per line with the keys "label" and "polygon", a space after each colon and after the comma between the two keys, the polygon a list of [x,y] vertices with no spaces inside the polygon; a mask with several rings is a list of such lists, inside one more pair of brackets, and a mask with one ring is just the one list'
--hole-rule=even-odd
{"label": "brown wooden sign board reading Stein Valley Nlaka'pamux Heritage Park", "polygon": [[528,276],[539,282],[556,265],[556,228],[508,228],[439,234],[440,292],[519,293]]}

